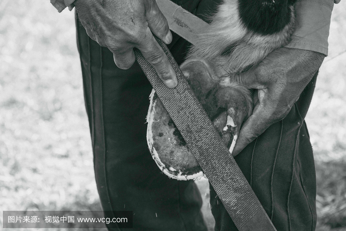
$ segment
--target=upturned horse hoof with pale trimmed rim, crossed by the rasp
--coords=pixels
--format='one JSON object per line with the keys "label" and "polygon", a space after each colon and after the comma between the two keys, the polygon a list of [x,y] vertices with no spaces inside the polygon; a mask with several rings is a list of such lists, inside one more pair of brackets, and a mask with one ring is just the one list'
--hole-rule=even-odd
{"label": "upturned horse hoof with pale trimmed rim, crossed by the rasp", "polygon": [[[213,69],[203,60],[188,60],[181,65],[186,80],[208,113],[216,130],[232,152],[240,126],[247,115],[247,100],[237,85],[220,85]],[[147,142],[157,166],[178,180],[204,176],[161,100],[153,90],[147,115]]]}

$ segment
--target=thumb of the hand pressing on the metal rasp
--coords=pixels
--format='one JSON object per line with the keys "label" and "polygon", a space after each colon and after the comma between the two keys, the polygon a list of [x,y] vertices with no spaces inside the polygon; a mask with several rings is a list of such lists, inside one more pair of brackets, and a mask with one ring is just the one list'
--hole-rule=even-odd
{"label": "thumb of the hand pressing on the metal rasp", "polygon": [[155,0],[150,0],[146,4],[146,19],[148,27],[154,35],[166,44],[172,42],[172,33],[169,29],[167,20],[158,8]]}

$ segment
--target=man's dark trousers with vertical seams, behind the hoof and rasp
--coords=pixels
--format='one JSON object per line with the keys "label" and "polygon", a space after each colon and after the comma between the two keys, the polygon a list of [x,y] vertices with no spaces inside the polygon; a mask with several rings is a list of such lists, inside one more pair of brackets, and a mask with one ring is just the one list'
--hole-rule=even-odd
{"label": "man's dark trousers with vertical seams, behind the hoof and rasp", "polygon": [[[206,2],[185,1],[183,7],[203,15],[215,10],[216,4],[208,8]],[[152,87],[139,65],[119,69],[108,48],[90,39],[78,19],[76,26],[95,178],[106,215],[133,211],[133,230],[206,230],[193,181],[163,175],[149,153],[145,117]],[[169,48],[178,64],[189,46],[173,33]],[[279,231],[316,226],[315,167],[304,122],[315,81],[316,76],[283,121],[235,158]],[[237,230],[212,187],[210,198],[215,229]]]}

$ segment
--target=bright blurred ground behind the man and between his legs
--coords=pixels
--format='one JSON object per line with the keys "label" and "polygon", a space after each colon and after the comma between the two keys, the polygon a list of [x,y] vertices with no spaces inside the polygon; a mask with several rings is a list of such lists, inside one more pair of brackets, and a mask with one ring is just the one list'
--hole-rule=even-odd
{"label": "bright blurred ground behind the man and between his legs", "polygon": [[[306,118],[320,231],[346,230],[345,63],[342,0]],[[211,228],[208,183],[196,183]],[[74,14],[58,14],[49,1],[0,0],[0,227],[3,210],[101,210]]]}

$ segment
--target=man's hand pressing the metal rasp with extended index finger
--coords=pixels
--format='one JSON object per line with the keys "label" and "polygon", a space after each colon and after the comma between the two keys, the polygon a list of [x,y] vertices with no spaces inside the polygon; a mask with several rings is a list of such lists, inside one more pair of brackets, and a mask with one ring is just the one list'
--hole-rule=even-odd
{"label": "man's hand pressing the metal rasp with extended index finger", "polygon": [[119,68],[132,66],[136,47],[167,87],[177,85],[175,72],[153,36],[166,44],[172,42],[166,18],[155,0],[77,0],[74,5],[88,35],[109,48]]}

